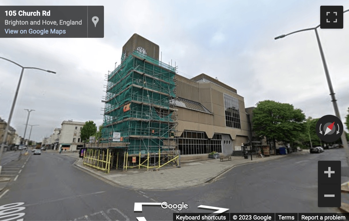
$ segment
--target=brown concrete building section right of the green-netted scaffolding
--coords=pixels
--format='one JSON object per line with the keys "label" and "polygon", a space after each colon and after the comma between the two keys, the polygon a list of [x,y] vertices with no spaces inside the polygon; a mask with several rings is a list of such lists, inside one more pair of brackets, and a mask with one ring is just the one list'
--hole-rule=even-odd
{"label": "brown concrete building section right of the green-netted scaffolding", "polygon": [[244,97],[237,90],[200,74],[176,75],[178,149],[182,155],[207,157],[210,152],[231,155],[249,140]]}

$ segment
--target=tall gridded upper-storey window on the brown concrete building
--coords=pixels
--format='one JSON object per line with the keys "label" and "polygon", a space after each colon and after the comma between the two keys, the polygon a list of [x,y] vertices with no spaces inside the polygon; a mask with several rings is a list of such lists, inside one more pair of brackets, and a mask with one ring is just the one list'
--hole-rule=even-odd
{"label": "tall gridded upper-storey window on the brown concrete building", "polygon": [[224,94],[225,126],[241,129],[239,100]]}

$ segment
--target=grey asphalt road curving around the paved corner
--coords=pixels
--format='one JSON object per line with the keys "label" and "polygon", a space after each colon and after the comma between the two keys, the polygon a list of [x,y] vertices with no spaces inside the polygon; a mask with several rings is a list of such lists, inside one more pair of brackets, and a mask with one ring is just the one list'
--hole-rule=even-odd
{"label": "grey asphalt road curving around the paved corner", "polygon": [[24,203],[20,212],[24,220],[136,220],[140,216],[147,220],[172,220],[174,211],[159,206],[133,212],[135,202],[164,201],[189,205],[180,212],[208,212],[198,209],[199,205],[241,213],[338,212],[336,208],[317,207],[318,160],[343,162],[344,150],[290,154],[278,160],[235,167],[205,185],[149,191],[114,186],[73,166],[75,159],[71,157],[43,152],[29,157],[17,180],[0,198],[0,206]]}

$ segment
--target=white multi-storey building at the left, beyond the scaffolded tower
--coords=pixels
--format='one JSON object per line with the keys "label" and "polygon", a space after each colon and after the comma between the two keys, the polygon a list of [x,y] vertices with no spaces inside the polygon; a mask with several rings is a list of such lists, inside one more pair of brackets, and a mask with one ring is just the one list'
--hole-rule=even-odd
{"label": "white multi-storey building at the left, beyond the scaffolded tower", "polygon": [[[85,122],[63,121],[61,124],[58,149],[66,151],[76,151],[83,147],[83,142],[80,138],[80,131],[85,125]],[[56,131],[58,132],[58,131]]]}

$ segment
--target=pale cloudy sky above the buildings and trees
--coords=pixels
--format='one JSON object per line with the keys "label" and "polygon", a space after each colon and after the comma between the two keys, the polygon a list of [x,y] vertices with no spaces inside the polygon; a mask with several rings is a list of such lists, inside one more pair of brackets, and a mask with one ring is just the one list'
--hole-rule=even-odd
{"label": "pale cloudy sky above the buildings and trees", "polygon": [[[0,0],[0,5],[13,4]],[[105,74],[120,63],[121,48],[133,33],[158,44],[162,61],[176,61],[182,76],[206,73],[236,88],[246,107],[275,100],[314,118],[334,114],[314,31],[274,40],[318,25],[320,6],[329,5],[328,0],[100,0],[59,5],[103,5],[104,38],[1,39],[1,57],[57,72],[25,70],[11,123],[20,136],[25,108],[35,109],[29,124],[40,125],[31,134],[38,142],[63,120],[102,124]],[[332,0],[330,5],[349,8],[348,1]],[[349,13],[344,14],[344,29],[319,29],[319,35],[344,121],[349,107]],[[20,71],[0,60],[0,117],[6,121]]]}

